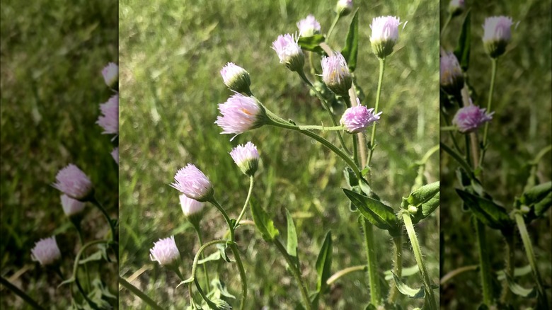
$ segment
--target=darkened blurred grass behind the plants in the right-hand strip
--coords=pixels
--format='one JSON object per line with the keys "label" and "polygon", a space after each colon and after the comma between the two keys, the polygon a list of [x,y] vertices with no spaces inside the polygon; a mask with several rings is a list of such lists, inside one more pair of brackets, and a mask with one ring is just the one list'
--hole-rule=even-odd
{"label": "darkened blurred grass behind the plants in the right-hand strip", "polygon": [[[447,18],[448,1],[441,1],[441,23]],[[523,193],[529,177],[527,161],[550,145],[552,110],[552,1],[466,1],[471,8],[471,58],[468,78],[473,86],[473,102],[487,106],[490,86],[491,62],[483,49],[483,23],[488,16],[512,16],[512,41],[506,54],[498,62],[498,74],[493,96],[495,111],[490,122],[490,147],[485,156],[485,190],[502,203],[508,212],[512,210],[514,197]],[[446,50],[454,50],[465,14],[454,18],[444,32],[441,44]],[[481,139],[483,130],[479,132]],[[448,134],[442,134],[443,142],[452,145]],[[461,142],[463,140],[459,140]],[[552,156],[542,159],[537,177],[539,182],[551,180]],[[458,165],[447,154],[441,156],[441,224],[444,229],[444,261],[442,275],[465,265],[478,264],[476,237],[470,224],[470,214],[461,211],[461,200],[454,188],[458,188],[455,169]],[[551,223],[548,215],[529,225],[539,270],[547,285],[551,285],[552,253]],[[493,270],[504,268],[505,243],[502,235],[487,229],[488,246]],[[527,265],[524,248],[517,238],[515,265]],[[443,253],[443,249],[442,249]],[[519,279],[522,285],[534,285],[531,275]],[[442,306],[445,309],[474,309],[481,303],[478,272],[468,272],[442,286]],[[534,306],[534,301],[514,298],[514,309]]]}

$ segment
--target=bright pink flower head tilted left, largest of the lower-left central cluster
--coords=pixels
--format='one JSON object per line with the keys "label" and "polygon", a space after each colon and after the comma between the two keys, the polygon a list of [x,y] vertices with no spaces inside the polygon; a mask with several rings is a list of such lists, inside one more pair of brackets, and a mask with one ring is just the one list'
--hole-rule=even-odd
{"label": "bright pink flower head tilted left, largest of the lower-left central cluster", "polygon": [[176,172],[174,180],[171,186],[180,190],[188,198],[205,202],[213,197],[214,190],[209,178],[191,163],[180,168]]}

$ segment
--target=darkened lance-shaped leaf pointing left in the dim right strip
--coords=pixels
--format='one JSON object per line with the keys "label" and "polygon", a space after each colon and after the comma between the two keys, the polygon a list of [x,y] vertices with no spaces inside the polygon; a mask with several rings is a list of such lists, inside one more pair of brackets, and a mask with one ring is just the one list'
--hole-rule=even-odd
{"label": "darkened lance-shaped leaf pointing left in the dim right strip", "polygon": [[465,190],[456,189],[456,193],[483,224],[493,229],[511,228],[512,220],[503,207],[496,205],[492,200],[473,195]]}

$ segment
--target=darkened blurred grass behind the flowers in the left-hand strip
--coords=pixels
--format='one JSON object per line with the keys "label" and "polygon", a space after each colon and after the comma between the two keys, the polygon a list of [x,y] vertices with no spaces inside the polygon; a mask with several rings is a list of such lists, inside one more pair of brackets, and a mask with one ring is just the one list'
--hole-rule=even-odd
{"label": "darkened blurred grass behind the flowers in the left-hand strip", "polygon": [[[113,145],[95,123],[99,104],[112,96],[101,70],[117,62],[117,1],[6,0],[0,21],[0,272],[47,309],[67,309],[68,286],[56,289],[62,281],[31,261],[30,249],[56,235],[69,277],[78,236],[59,191],[50,186],[68,163],[91,178],[98,200],[117,213]],[[100,212],[89,209],[83,222],[88,241],[108,232]],[[115,275],[116,265],[109,266],[102,272]],[[1,309],[27,309],[8,289],[0,290]]]}

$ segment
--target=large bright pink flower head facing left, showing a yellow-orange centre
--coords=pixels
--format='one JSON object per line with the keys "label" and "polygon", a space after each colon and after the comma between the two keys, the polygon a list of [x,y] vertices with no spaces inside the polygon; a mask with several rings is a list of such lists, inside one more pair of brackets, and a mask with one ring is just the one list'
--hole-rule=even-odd
{"label": "large bright pink flower head facing left, showing a yellow-orange centre", "polygon": [[255,98],[240,93],[220,103],[219,111],[222,116],[219,115],[214,123],[222,128],[221,134],[237,135],[264,125],[264,108]]}

